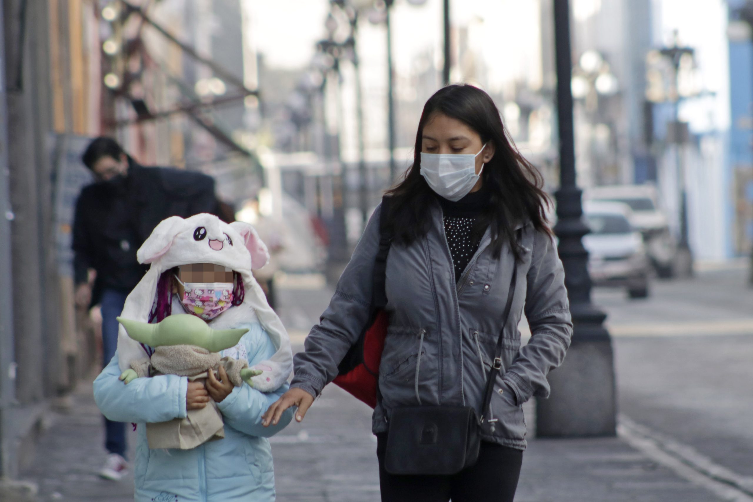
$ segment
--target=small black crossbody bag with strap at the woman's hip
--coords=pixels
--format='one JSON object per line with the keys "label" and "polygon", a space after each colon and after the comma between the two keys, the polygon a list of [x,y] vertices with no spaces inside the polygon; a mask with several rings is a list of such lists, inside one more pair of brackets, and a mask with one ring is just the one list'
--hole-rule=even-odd
{"label": "small black crossbody bag with strap at the woman's hip", "polygon": [[510,318],[516,281],[517,263],[502,314],[504,321],[494,362],[486,379],[481,417],[472,406],[402,406],[393,409],[384,460],[388,473],[452,475],[476,463],[481,446],[481,425],[492,400],[496,376],[502,367],[502,336]]}

